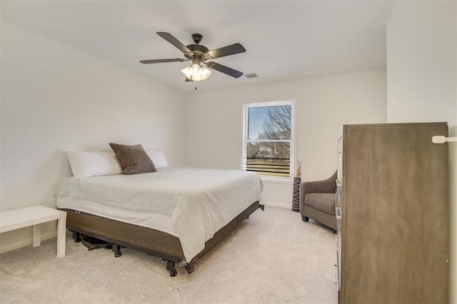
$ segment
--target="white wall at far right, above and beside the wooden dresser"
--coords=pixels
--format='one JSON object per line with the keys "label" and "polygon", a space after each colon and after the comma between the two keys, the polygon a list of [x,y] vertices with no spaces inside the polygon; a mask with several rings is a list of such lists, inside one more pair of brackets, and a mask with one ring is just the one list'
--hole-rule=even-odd
{"label": "white wall at far right, above and beside the wooden dresser", "polygon": [[[457,136],[457,5],[411,1],[394,6],[387,25],[387,119],[447,121]],[[457,303],[457,143],[450,166],[450,302]]]}

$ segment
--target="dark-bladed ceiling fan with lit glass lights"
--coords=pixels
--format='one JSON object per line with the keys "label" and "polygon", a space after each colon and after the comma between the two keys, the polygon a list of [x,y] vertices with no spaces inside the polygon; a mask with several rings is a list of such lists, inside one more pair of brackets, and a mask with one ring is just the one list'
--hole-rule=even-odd
{"label": "dark-bladed ceiling fan with lit glass lights", "polygon": [[[243,75],[240,71],[229,68],[228,66],[223,66],[222,64],[217,64],[214,61],[209,61],[212,59],[243,53],[246,51],[241,44],[231,44],[229,46],[224,46],[220,49],[214,49],[209,51],[206,46],[200,44],[203,36],[201,34],[192,34],[192,39],[194,44],[189,44],[185,46],[178,39],[169,33],[163,31],[158,31],[156,34],[161,36],[166,41],[169,41],[170,44],[173,44],[180,51],[183,52],[186,59],[176,58],[176,59],[153,59],[153,60],[141,60],[141,64],[160,64],[163,62],[182,62],[182,61],[192,61],[191,66],[187,66],[185,69],[182,69],[181,72],[186,76],[186,81],[201,81],[205,80],[211,75],[209,69],[214,69],[220,71],[229,76],[239,78]],[[206,69],[206,65],[209,69]]]}

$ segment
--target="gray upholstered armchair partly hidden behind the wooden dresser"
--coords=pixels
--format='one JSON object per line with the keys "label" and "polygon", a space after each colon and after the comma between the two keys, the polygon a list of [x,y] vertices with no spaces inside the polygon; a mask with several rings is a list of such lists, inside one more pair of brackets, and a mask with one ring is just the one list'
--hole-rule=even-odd
{"label": "gray upholstered armchair partly hidden behind the wooden dresser", "polygon": [[336,230],[336,171],[323,181],[305,181],[300,185],[300,213],[303,222],[310,218]]}

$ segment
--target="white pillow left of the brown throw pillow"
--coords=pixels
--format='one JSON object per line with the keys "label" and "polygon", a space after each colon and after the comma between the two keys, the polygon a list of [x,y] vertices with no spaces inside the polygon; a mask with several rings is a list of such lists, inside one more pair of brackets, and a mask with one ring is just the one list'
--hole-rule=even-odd
{"label": "white pillow left of the brown throw pillow", "polygon": [[121,165],[112,152],[67,151],[74,177],[110,176],[122,174]]}

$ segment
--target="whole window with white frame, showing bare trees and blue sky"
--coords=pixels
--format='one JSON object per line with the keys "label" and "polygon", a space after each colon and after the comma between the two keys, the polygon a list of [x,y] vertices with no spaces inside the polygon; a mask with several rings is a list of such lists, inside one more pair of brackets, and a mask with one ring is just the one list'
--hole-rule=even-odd
{"label": "whole window with white frame, showing bare trees and blue sky", "polygon": [[243,170],[293,176],[293,117],[293,101],[244,105]]}

